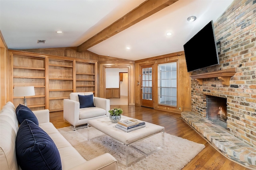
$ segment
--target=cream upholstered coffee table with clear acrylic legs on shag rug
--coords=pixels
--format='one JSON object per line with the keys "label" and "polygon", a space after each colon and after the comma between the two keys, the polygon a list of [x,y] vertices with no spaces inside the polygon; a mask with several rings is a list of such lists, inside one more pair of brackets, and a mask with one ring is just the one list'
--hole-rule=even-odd
{"label": "cream upholstered coffee table with clear acrylic legs on shag rug", "polygon": [[[122,116],[122,120],[132,119],[130,117]],[[152,154],[153,152],[156,152],[159,149],[164,148],[164,127],[155,125],[152,123],[145,122],[146,127],[136,129],[134,131],[125,132],[121,129],[116,128],[116,123],[112,123],[109,119],[109,117],[103,117],[99,119],[92,119],[88,120],[88,127],[94,127],[95,129],[98,129],[105,135],[108,135],[112,139],[118,141],[119,143],[122,143],[125,145],[125,154],[126,154],[126,160],[120,161],[120,163],[130,166],[139,160],[145,158],[146,156]],[[90,129],[90,128],[88,128]],[[153,135],[156,135],[158,133],[162,133],[162,140],[161,145],[159,147],[156,147],[153,150],[144,152],[138,148],[136,148],[136,143],[139,141],[142,141],[148,137],[151,137]],[[94,138],[90,139],[90,130],[88,130],[88,140],[92,140]],[[139,156],[138,158],[135,158],[134,160],[129,159],[129,151],[130,148],[136,149],[138,152],[142,153],[142,156]]]}

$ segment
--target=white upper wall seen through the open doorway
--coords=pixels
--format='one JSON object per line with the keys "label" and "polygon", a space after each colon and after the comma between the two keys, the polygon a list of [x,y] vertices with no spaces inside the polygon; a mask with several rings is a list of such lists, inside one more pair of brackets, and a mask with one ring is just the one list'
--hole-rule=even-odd
{"label": "white upper wall seen through the open doorway", "polygon": [[119,72],[128,72],[128,68],[106,68],[105,71],[106,88],[119,88]]}

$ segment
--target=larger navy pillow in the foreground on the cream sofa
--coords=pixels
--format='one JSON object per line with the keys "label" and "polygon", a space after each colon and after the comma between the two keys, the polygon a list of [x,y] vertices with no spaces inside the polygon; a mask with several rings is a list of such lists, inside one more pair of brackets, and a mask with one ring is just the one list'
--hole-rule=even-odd
{"label": "larger navy pillow in the foreground on the cream sofa", "polygon": [[24,120],[16,138],[16,157],[23,170],[61,170],[60,153],[50,136],[32,121]]}

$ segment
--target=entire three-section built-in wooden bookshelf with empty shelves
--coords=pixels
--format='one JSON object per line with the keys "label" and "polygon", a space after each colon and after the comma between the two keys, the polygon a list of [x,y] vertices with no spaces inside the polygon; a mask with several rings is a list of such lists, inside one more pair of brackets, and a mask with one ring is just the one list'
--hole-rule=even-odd
{"label": "entire three-section built-in wooden bookshelf with empty shelves", "polygon": [[[36,96],[28,96],[32,110],[63,110],[63,99],[71,92],[94,92],[97,96],[97,62],[71,57],[41,55],[9,50],[12,61],[12,93],[14,86],[34,86]],[[23,103],[23,97],[14,97],[14,106]]]}

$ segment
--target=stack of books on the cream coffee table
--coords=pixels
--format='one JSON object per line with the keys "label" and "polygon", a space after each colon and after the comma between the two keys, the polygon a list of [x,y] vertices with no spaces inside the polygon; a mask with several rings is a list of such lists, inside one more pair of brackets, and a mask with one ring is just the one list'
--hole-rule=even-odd
{"label": "stack of books on the cream coffee table", "polygon": [[140,129],[142,127],[146,127],[144,121],[138,121],[136,119],[129,119],[124,121],[118,121],[116,123],[116,128],[121,129],[126,132],[134,131],[136,129]]}

